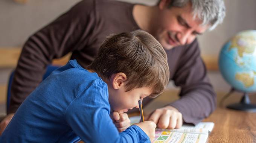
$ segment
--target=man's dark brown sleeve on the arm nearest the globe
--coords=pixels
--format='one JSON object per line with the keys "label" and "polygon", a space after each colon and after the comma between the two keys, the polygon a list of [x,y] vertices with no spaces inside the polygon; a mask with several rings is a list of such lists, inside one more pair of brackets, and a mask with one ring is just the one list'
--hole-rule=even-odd
{"label": "man's dark brown sleeve on the arm nearest the globe", "polygon": [[174,84],[181,87],[181,98],[169,105],[182,113],[184,122],[197,124],[215,110],[216,94],[207,77],[197,40],[182,51],[173,77]]}

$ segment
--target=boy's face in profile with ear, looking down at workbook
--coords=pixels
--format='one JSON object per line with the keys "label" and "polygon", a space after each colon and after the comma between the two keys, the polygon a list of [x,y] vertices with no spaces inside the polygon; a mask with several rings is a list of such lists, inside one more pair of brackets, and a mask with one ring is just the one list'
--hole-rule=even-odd
{"label": "boy's face in profile with ear, looking down at workbook", "polygon": [[114,74],[111,80],[107,82],[109,103],[111,110],[117,111],[119,114],[127,112],[134,107],[139,108],[139,99],[149,96],[152,89],[148,87],[135,88],[126,92],[125,87],[126,75],[119,73]]}

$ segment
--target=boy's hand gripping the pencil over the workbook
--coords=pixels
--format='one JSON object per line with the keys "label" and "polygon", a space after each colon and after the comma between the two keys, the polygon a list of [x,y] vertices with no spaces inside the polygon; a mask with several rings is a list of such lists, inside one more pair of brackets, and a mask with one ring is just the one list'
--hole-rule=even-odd
{"label": "boy's hand gripping the pencil over the workbook", "polygon": [[155,128],[157,127],[157,125],[154,122],[144,121],[133,125],[139,126],[148,135],[150,141],[152,142],[152,140],[155,137]]}

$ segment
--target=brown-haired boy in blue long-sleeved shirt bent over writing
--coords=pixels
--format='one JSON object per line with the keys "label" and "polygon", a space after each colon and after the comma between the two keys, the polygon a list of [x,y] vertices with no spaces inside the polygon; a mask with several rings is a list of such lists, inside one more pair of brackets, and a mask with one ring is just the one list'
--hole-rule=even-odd
{"label": "brown-haired boy in blue long-sleeved shirt bent over writing", "polygon": [[152,35],[113,35],[88,67],[71,60],[53,71],[18,108],[0,142],[150,142],[154,122],[119,133],[110,111],[139,108],[140,98],[156,97],[168,81],[166,53]]}

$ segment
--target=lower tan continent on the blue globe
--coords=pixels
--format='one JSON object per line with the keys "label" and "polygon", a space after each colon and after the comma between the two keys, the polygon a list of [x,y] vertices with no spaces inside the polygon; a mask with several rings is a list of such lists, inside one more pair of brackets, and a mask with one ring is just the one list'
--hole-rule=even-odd
{"label": "lower tan continent on the blue globe", "polygon": [[241,81],[245,87],[254,85],[254,77],[251,77],[249,73],[236,73],[235,79]]}

